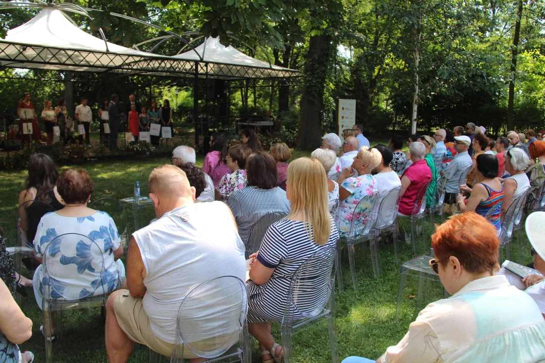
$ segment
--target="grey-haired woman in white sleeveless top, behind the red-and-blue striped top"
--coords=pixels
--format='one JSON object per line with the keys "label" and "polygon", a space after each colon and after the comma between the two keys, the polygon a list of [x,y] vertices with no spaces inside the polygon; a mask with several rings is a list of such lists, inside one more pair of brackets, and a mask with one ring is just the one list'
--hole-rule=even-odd
{"label": "grey-haired woman in white sleeveless top, behind the red-and-blue striped top", "polygon": [[524,174],[524,170],[528,168],[530,159],[524,150],[518,147],[513,147],[505,152],[505,170],[511,176],[504,179],[504,201],[501,203],[501,219],[507,212],[511,202],[523,195],[530,188],[530,180]]}

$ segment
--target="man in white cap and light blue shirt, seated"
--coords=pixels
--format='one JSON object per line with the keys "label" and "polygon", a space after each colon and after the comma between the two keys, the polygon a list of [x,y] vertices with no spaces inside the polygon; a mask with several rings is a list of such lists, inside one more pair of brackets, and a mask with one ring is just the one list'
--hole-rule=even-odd
{"label": "man in white cap and light blue shirt, seated", "polygon": [[473,166],[473,161],[471,161],[471,156],[469,156],[468,149],[471,145],[471,139],[468,136],[456,136],[455,138],[455,149],[457,151],[454,159],[447,165],[447,167],[442,171],[443,175],[446,176],[445,184],[445,201],[452,202],[451,200],[456,200],[456,195],[460,191],[460,177],[465,170]]}

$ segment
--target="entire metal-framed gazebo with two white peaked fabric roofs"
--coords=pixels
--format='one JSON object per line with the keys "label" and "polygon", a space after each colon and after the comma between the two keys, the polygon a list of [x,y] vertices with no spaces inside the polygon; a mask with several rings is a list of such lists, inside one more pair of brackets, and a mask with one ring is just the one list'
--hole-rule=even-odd
{"label": "entire metal-framed gazebo with two white peaked fabric roofs", "polygon": [[[195,115],[195,143],[198,145],[199,133],[208,135],[208,100],[205,97],[207,116],[199,115],[199,79],[207,84],[212,93],[219,94],[223,82],[244,79],[268,79],[269,81],[290,82],[298,77],[299,72],[280,66],[270,61],[265,62],[236,50],[232,46],[223,46],[219,39],[196,36],[186,40],[182,36],[167,32],[161,28],[128,16],[111,13],[130,21],[142,23],[167,33],[159,38],[144,41],[134,48],[126,48],[108,42],[102,29],[101,38],[84,32],[66,15],[66,11],[90,17],[93,9],[84,9],[71,3],[0,2],[0,9],[42,8],[32,20],[8,30],[5,39],[0,39],[0,67],[19,69],[104,72],[123,75],[149,75],[175,78],[189,78],[193,83],[193,113]],[[177,39],[183,47],[175,56],[164,56],[143,52],[138,47],[151,41],[159,41],[152,52],[165,41]],[[202,40],[202,44],[193,46]],[[213,82],[213,83],[210,83]],[[216,89],[216,90],[214,90]],[[201,120],[202,122],[198,122]]]}

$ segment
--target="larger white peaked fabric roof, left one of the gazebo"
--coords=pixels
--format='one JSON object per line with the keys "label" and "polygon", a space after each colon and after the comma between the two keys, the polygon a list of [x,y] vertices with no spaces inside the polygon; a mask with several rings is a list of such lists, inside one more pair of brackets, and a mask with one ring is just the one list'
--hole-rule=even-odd
{"label": "larger white peaked fabric roof, left one of the gazebo", "polygon": [[159,57],[110,42],[107,46],[106,50],[104,40],[75,26],[60,10],[46,7],[32,20],[8,30],[5,39],[0,39],[0,65],[73,71],[121,67],[136,71],[134,63]]}

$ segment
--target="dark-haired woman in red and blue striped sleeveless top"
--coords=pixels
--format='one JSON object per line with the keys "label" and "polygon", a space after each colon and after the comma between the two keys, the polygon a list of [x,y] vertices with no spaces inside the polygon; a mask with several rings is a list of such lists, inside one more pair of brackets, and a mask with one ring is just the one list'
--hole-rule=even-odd
{"label": "dark-haired woman in red and blue striped sleeveless top", "polygon": [[490,154],[481,154],[477,156],[477,168],[475,171],[476,179],[482,180],[476,184],[473,189],[467,185],[461,187],[463,192],[471,193],[469,199],[462,194],[458,194],[457,202],[462,212],[476,212],[485,217],[494,208],[490,223],[501,228],[501,202],[504,199],[504,187],[498,178],[498,158]]}

